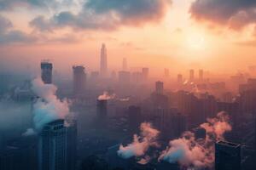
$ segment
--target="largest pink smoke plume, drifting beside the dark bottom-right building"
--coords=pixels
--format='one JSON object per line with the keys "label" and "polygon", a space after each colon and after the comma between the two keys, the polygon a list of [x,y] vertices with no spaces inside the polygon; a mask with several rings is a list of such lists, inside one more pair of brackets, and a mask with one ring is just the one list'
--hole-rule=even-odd
{"label": "largest pink smoke plume, drifting beside the dark bottom-right building", "polygon": [[159,160],[178,162],[182,167],[195,169],[212,167],[214,143],[224,139],[224,133],[232,129],[229,116],[220,112],[216,118],[207,119],[201,127],[207,132],[206,139],[195,139],[195,133],[183,133],[181,138],[169,142],[169,146],[160,154]]}

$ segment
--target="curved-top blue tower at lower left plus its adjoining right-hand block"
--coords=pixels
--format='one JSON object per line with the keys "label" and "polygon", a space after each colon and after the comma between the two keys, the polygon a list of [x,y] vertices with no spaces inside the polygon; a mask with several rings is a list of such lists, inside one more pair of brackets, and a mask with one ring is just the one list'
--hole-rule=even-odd
{"label": "curved-top blue tower at lower left plus its adjoining right-hand block", "polygon": [[71,170],[76,159],[76,123],[49,122],[39,134],[38,170]]}

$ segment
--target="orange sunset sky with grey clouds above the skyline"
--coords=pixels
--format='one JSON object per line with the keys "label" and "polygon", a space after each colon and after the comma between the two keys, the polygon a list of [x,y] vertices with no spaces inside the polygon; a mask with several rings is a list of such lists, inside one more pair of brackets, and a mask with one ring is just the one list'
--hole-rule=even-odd
{"label": "orange sunset sky with grey clouds above the skyline", "polygon": [[236,72],[256,62],[254,0],[0,0],[0,67],[50,59],[60,71],[202,68]]}

